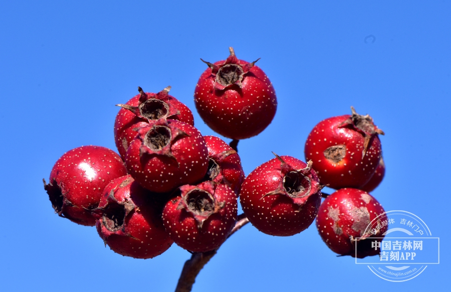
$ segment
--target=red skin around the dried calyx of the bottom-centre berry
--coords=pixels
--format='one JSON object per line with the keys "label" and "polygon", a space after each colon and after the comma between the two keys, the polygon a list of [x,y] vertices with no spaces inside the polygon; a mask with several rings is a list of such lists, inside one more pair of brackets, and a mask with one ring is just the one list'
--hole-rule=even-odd
{"label": "red skin around the dried calyx of the bottom-centre berry", "polygon": [[[205,252],[218,248],[232,231],[238,216],[238,202],[230,187],[202,182],[197,186],[183,186],[181,194],[169,200],[163,209],[163,224],[174,242],[192,252]],[[194,215],[186,208],[177,210],[182,197],[189,190],[199,188],[208,191],[217,202],[224,206],[216,213],[209,215],[198,227]]]}

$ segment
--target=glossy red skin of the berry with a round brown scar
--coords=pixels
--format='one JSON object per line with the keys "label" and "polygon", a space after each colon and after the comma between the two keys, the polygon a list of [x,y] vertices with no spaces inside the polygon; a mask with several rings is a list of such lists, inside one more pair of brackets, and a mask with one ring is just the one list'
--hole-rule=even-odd
{"label": "glossy red skin of the berry with a round brown scar", "polygon": [[[305,143],[305,159],[313,161],[321,183],[329,184],[334,189],[362,187],[373,175],[382,154],[379,137],[375,135],[362,159],[363,135],[350,127],[338,127],[350,117],[343,115],[321,121],[310,132]],[[324,156],[324,151],[334,145],[346,146],[346,155],[338,163]]]}

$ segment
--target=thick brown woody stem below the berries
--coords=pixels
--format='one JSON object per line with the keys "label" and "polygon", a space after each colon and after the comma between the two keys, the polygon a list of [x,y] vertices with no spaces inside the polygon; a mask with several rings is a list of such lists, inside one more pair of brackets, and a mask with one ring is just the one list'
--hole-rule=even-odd
{"label": "thick brown woody stem below the berries", "polygon": [[[240,230],[247,223],[249,223],[249,219],[245,214],[238,215],[237,223],[227,238]],[[175,292],[190,292],[200,270],[210,260],[210,258],[216,254],[217,250],[218,249],[213,249],[206,252],[193,253],[191,258],[185,261],[185,264],[183,265]]]}

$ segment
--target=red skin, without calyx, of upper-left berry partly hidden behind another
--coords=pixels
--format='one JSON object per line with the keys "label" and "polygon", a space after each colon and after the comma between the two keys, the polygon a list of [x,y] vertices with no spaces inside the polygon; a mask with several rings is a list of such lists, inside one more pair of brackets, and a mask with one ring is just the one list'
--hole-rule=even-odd
{"label": "red skin, without calyx, of upper-left berry partly hidden behind another", "polygon": [[[155,93],[146,92],[146,95],[149,99],[157,98]],[[135,95],[126,104],[137,107],[139,104],[139,97],[140,94]],[[171,95],[168,95],[168,98],[170,104],[180,112],[180,114],[170,116],[170,118],[194,126],[194,118],[189,108]],[[138,133],[135,129],[148,125],[149,123],[146,119],[137,117],[131,111],[124,108],[119,110],[116,115],[116,120],[114,121],[114,141],[116,142],[117,150],[122,159],[125,160],[125,153],[127,153],[128,146],[130,146],[131,141]]]}

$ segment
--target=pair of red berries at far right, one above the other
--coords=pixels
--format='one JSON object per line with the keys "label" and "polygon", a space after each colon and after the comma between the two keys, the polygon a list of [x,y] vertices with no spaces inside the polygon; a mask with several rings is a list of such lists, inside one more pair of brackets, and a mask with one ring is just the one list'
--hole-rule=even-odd
{"label": "pair of red berries at far right, one above the other", "polygon": [[368,194],[385,173],[378,137],[384,133],[369,115],[359,115],[353,107],[351,110],[352,115],[318,123],[307,138],[304,152],[306,159],[313,161],[321,182],[337,189],[319,208],[319,234],[334,252],[365,257],[379,254],[380,250],[372,247],[377,244],[371,241],[380,242],[387,231],[387,226],[376,231],[368,228],[387,219],[379,202]]}

